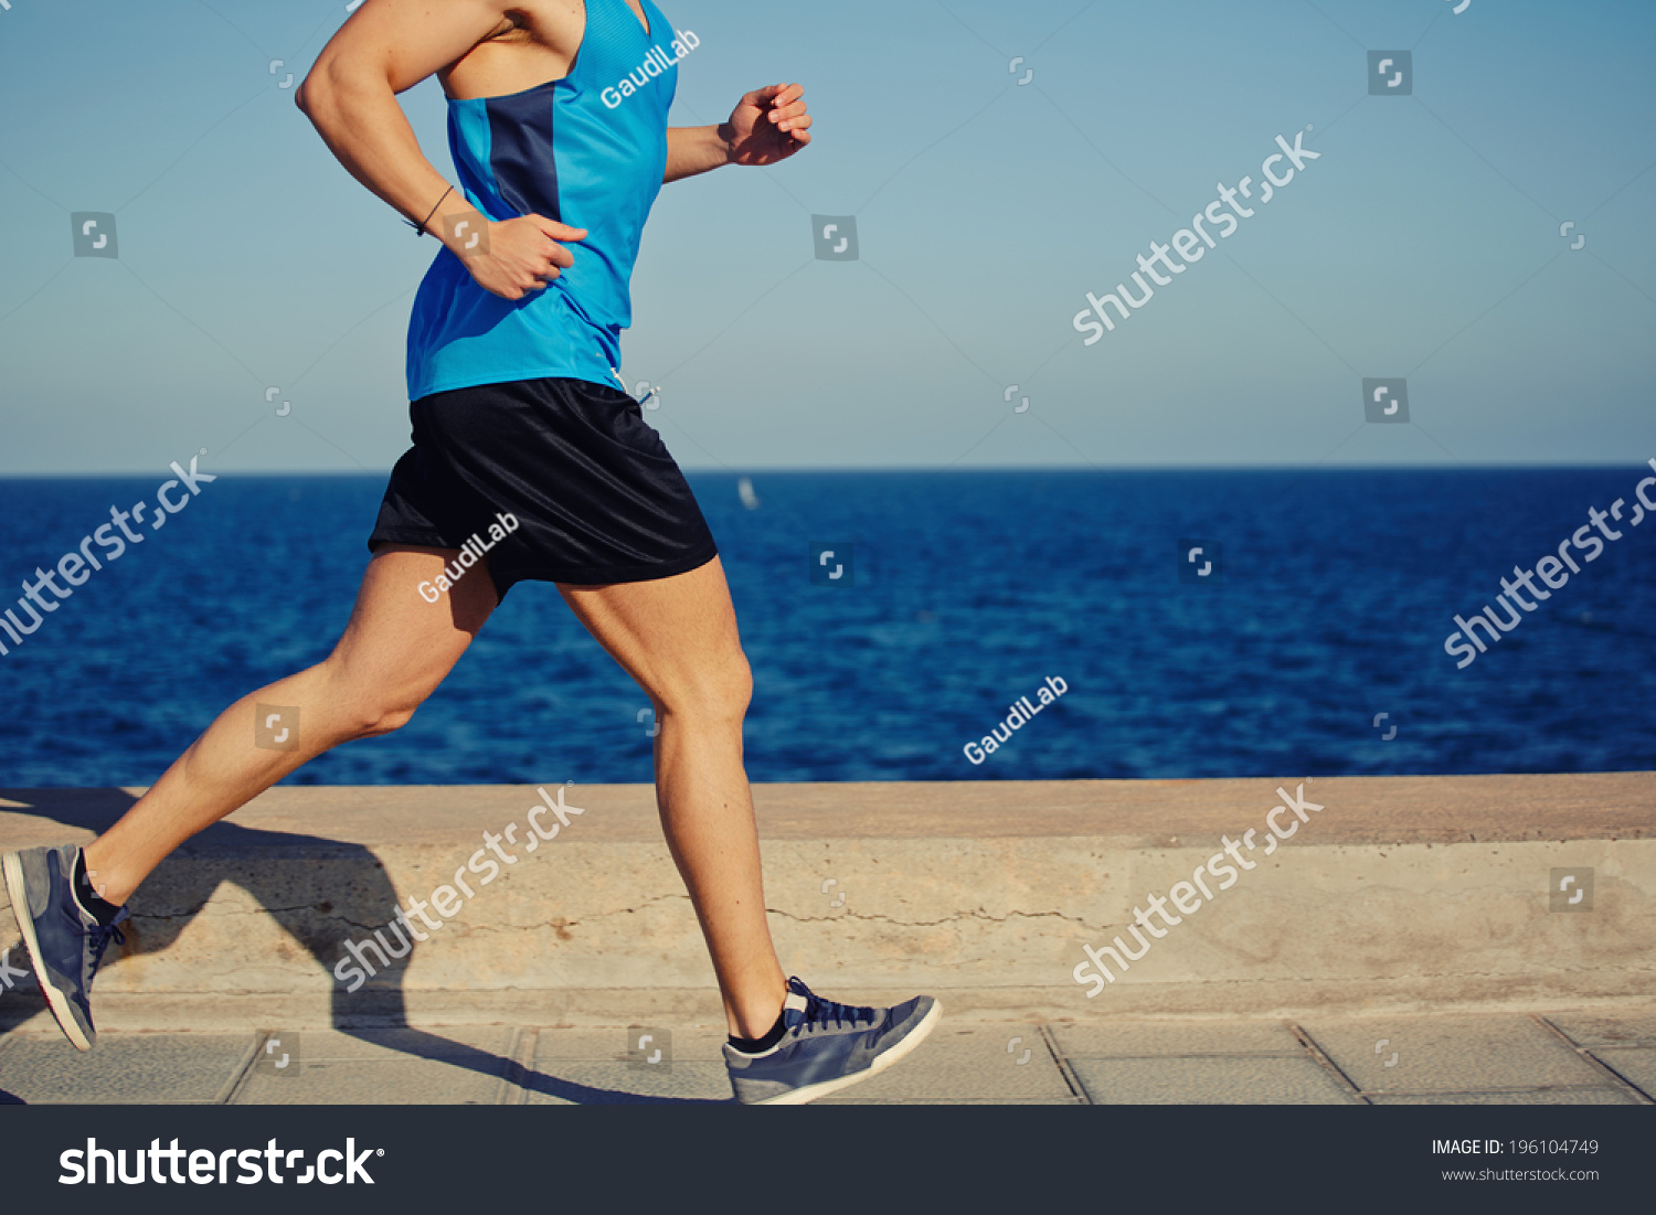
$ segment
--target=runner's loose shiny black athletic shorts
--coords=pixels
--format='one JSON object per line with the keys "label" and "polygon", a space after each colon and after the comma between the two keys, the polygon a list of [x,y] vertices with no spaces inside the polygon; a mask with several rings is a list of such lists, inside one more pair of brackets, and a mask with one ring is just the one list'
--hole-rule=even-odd
{"label": "runner's loose shiny black athletic shorts", "polygon": [[[472,548],[493,545],[500,598],[525,578],[643,583],[719,555],[684,473],[619,387],[480,384],[421,397],[409,417],[414,447],[391,472],[369,551],[477,538]],[[495,541],[489,528],[500,516],[518,526]]]}

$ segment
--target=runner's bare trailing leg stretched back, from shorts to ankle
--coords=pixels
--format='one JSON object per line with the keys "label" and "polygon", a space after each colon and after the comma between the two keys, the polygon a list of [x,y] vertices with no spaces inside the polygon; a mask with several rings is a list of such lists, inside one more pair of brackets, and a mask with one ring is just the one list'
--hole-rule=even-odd
{"label": "runner's bare trailing leg stretched back, from shorts to ankle", "polygon": [[[419,584],[454,556],[454,550],[381,548],[333,654],[225,708],[119,823],[88,844],[86,867],[96,871],[101,896],[126,902],[172,849],[295,768],[351,738],[404,725],[495,609],[482,563],[437,603],[421,598]],[[298,750],[253,745],[260,704],[298,707]]]}

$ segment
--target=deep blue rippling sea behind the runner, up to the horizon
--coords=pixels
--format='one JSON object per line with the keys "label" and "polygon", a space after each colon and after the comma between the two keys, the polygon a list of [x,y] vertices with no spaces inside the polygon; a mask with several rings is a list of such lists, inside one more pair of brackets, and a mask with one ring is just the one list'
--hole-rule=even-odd
{"label": "deep blue rippling sea behind the runner, up to the horizon", "polygon": [[[1656,768],[1648,475],[753,472],[752,507],[735,473],[691,482],[753,665],[749,775],[851,781]],[[161,480],[0,480],[0,578]],[[224,705],[326,657],[383,490],[220,475],[144,526],[0,657],[0,785],[147,785]],[[1616,498],[1621,538],[1545,601],[1519,588],[1533,611],[1457,669],[1454,616]],[[1065,695],[974,765],[964,745],[1048,677]],[[290,783],[647,781],[646,707],[527,583],[411,725]]]}

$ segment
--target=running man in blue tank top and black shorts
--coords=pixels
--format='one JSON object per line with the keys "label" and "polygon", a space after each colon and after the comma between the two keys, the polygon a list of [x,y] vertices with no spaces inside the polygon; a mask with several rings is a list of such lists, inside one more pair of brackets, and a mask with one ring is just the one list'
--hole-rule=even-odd
{"label": "running man in blue tank top and black shorts", "polygon": [[[719,126],[669,129],[677,61],[697,45],[651,0],[368,0],[318,56],[300,109],[363,185],[444,245],[409,321],[414,447],[333,654],[230,705],[84,851],[5,856],[35,973],[79,1049],[94,1041],[93,975],[124,940],[139,882],[313,756],[404,725],[523,579],[556,583],[656,707],[656,801],[719,975],[735,1097],[843,1089],[937,1023],[931,996],[840,1005],[782,973],[742,766],[752,677],[724,566],[679,467],[616,386],[662,184],[775,164],[811,139],[798,84],[749,93]],[[396,101],[432,74],[457,182],[426,161]],[[480,556],[474,536],[497,543]],[[467,551],[470,576],[450,581]],[[436,604],[422,583],[442,591]],[[298,750],[253,745],[260,704],[300,708]]]}

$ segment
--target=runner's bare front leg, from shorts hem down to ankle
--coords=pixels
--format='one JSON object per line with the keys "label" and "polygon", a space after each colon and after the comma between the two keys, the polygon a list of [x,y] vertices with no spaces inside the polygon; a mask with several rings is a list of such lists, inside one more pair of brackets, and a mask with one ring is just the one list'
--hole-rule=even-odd
{"label": "runner's bare front leg, from shorts hem down to ankle", "polygon": [[715,558],[651,583],[558,589],[656,705],[656,803],[724,993],[730,1033],[762,1036],[787,977],[765,922],[742,718],[753,680]]}

